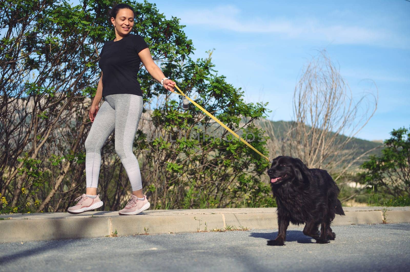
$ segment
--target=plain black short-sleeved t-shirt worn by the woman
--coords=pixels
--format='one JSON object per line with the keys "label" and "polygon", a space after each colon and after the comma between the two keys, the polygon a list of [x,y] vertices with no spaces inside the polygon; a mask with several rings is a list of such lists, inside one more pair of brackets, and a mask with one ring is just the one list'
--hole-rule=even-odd
{"label": "plain black short-sleeved t-shirt worn by the woman", "polygon": [[142,96],[137,80],[141,59],[138,53],[148,47],[139,35],[129,34],[116,42],[110,40],[101,49],[98,65],[103,71],[103,96],[135,94]]}

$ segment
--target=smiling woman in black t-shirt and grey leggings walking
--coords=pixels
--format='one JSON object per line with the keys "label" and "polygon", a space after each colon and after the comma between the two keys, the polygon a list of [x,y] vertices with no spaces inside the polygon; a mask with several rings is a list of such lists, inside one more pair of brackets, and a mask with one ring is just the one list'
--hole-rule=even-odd
{"label": "smiling woman in black t-shirt and grey leggings walking", "polygon": [[[166,78],[155,64],[144,39],[139,35],[130,34],[135,16],[132,7],[118,4],[110,15],[116,38],[106,42],[100,53],[101,78],[89,111],[93,124],[85,141],[87,188],[86,193],[76,199],[79,200],[78,203],[68,208],[71,214],[79,214],[103,205],[100,195],[97,195],[100,151],[114,129],[115,151],[121,159],[132,187],[130,201],[118,213],[139,214],[150,207],[142,192],[139,164],[132,152],[132,143],[143,108],[142,92],[137,80],[141,61],[150,75],[160,81],[165,89],[174,91],[175,82]],[[104,103],[98,109],[102,97]]]}

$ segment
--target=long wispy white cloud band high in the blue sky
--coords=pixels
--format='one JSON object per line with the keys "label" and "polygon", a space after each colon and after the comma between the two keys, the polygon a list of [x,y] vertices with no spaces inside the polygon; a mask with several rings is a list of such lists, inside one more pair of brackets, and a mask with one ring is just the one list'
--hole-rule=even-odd
{"label": "long wispy white cloud band high in the blue sky", "polygon": [[333,44],[366,44],[408,48],[410,40],[384,29],[372,29],[340,23],[330,24],[316,19],[249,18],[246,12],[232,5],[213,9],[186,9],[179,14],[185,25],[205,25],[244,33],[272,33],[286,38],[325,41]]}

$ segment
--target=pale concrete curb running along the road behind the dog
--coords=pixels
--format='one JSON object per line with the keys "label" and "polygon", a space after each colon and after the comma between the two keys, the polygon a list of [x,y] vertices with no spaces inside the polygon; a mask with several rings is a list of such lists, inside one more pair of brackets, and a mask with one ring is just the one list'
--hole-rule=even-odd
{"label": "pale concrete curb running along the road behind the dog", "polygon": [[[333,225],[410,222],[410,207],[344,207]],[[384,215],[383,215],[384,214]],[[10,219],[9,219],[10,218]],[[3,219],[3,220],[1,220]],[[148,210],[136,216],[118,212],[0,215],[0,243],[238,229],[277,229],[276,208]]]}

